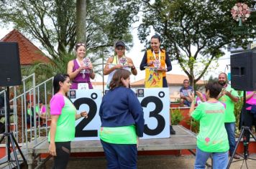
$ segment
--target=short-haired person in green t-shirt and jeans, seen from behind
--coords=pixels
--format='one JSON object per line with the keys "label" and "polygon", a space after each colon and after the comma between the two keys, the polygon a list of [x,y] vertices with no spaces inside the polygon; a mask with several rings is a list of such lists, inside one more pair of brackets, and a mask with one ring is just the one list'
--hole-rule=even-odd
{"label": "short-haired person in green t-shirt and jeans, seen from behind", "polygon": [[[205,168],[206,161],[212,155],[214,168],[227,168],[229,141],[224,126],[225,105],[217,100],[221,92],[218,82],[206,84],[206,102],[196,110],[192,102],[190,115],[200,122],[197,136],[195,168]],[[193,95],[193,94],[192,94]],[[194,99],[192,96],[191,98]]]}

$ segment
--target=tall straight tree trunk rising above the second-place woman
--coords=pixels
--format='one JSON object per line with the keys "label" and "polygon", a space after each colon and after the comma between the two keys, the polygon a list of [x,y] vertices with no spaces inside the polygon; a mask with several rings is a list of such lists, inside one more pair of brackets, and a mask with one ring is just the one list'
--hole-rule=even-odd
{"label": "tall straight tree trunk rising above the second-place woman", "polygon": [[86,0],[76,0],[76,42],[86,44]]}

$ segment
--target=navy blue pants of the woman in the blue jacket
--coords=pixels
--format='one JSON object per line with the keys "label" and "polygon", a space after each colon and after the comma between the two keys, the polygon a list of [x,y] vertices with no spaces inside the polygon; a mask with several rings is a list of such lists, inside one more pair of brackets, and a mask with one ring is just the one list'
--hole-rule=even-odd
{"label": "navy blue pants of the woman in the blue jacket", "polygon": [[101,140],[108,169],[137,168],[137,145],[119,145]]}

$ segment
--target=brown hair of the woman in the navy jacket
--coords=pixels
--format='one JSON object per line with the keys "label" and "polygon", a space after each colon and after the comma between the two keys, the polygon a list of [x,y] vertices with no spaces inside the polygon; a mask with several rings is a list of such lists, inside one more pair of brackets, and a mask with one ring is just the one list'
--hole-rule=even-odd
{"label": "brown hair of the woman in the navy jacket", "polygon": [[110,90],[114,90],[115,87],[124,86],[121,79],[127,79],[129,75],[131,75],[131,72],[129,72],[127,69],[116,70],[109,84]]}

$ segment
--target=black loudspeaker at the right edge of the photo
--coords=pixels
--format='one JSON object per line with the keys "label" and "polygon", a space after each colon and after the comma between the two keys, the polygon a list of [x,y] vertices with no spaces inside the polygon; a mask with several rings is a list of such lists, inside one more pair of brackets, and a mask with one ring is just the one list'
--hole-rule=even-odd
{"label": "black loudspeaker at the right edge of the photo", "polygon": [[256,51],[249,50],[230,57],[231,86],[235,90],[256,90]]}

